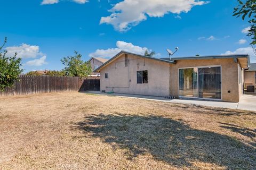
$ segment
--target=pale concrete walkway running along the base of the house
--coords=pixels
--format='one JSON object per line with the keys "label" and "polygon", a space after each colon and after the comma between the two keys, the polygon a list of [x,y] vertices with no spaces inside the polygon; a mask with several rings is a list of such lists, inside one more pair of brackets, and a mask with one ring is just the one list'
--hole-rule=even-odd
{"label": "pale concrete walkway running along the base of the house", "polygon": [[220,107],[220,108],[231,108],[231,109],[242,109],[247,111],[256,111],[256,94],[244,94],[241,97],[239,103],[229,103],[223,101],[206,101],[206,100],[195,100],[195,99],[165,99],[163,97],[157,96],[144,96],[144,95],[130,95],[130,94],[106,94],[100,91],[87,91],[86,94],[95,95],[105,95],[105,96],[117,96],[117,97],[127,97],[136,99],[146,99],[146,100],[156,100],[170,103],[182,103],[182,104],[192,104],[199,106],[210,106],[210,107]]}

